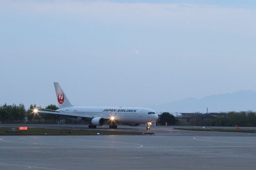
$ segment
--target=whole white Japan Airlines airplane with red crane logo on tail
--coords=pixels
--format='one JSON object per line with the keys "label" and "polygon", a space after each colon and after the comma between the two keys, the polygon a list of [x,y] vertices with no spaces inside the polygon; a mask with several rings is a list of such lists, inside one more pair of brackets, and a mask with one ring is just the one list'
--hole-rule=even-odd
{"label": "whole white Japan Airlines airplane with red crane logo on tail", "polygon": [[54,111],[35,108],[34,113],[50,113],[88,121],[90,123],[89,128],[96,128],[106,123],[110,124],[109,128],[117,128],[117,123],[131,126],[147,123],[146,129],[150,130],[152,122],[158,119],[158,115],[153,110],[147,108],[72,106],[59,83],[54,83],[54,87],[60,109]]}

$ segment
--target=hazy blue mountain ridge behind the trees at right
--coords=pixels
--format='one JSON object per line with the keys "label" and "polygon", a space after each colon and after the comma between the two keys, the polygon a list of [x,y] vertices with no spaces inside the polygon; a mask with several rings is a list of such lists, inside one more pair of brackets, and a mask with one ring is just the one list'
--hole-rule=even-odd
{"label": "hazy blue mountain ridge behind the trees at right", "polygon": [[186,97],[160,105],[147,105],[156,112],[192,113],[201,112],[228,112],[228,111],[256,111],[256,92],[252,90],[236,91],[219,95],[209,95],[196,99]]}

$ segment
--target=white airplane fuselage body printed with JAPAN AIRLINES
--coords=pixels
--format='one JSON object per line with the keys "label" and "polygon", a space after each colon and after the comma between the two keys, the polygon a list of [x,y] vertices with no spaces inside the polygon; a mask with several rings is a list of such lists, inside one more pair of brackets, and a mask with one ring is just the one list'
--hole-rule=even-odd
{"label": "white airplane fuselage body printed with JAPAN AIRLINES", "polygon": [[148,122],[155,122],[158,115],[148,108],[136,107],[65,107],[58,109],[62,113],[68,113],[70,116],[73,114],[92,115],[92,117],[102,117],[104,119],[111,119],[114,117],[116,123],[132,123],[132,124],[145,124]]}

